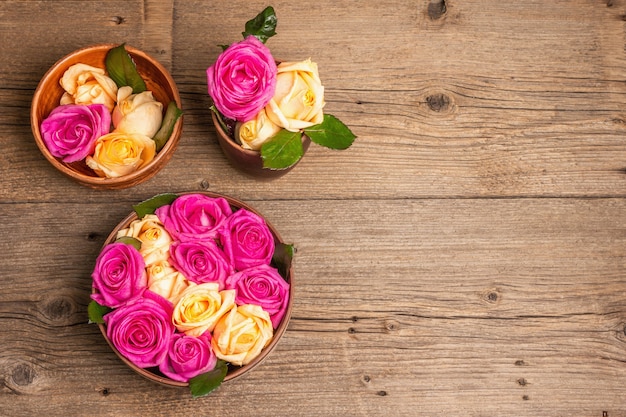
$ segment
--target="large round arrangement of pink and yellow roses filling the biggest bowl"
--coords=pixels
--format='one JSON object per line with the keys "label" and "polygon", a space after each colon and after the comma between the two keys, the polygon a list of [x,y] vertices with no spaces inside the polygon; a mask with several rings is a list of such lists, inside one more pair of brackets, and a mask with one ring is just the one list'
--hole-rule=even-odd
{"label": "large round arrangement of pink and yellow roses filling the biggest bowl", "polygon": [[89,319],[135,366],[206,395],[286,326],[293,248],[220,196],[161,194],[134,209],[96,259]]}

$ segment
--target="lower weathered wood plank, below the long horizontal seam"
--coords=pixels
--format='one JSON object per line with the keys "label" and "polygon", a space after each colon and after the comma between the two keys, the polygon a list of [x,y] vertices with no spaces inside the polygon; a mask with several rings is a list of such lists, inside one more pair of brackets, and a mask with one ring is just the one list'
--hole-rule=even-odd
{"label": "lower weathered wood plank, below the long horizontal seam", "polygon": [[[201,400],[134,375],[85,321],[89,272],[124,204],[5,206],[3,234],[20,239],[0,243],[14,260],[0,291],[3,409],[626,412],[623,199],[253,204],[297,247],[293,319],[261,367]],[[29,228],[8,226],[20,217]]]}

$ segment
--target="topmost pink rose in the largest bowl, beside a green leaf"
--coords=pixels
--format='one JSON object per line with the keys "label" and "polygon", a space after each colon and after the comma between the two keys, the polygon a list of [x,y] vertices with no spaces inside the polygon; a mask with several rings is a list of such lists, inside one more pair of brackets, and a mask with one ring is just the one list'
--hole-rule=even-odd
{"label": "topmost pink rose in the largest bowl, beside a green leaf", "polygon": [[159,207],[155,214],[176,240],[210,240],[218,233],[232,209],[224,198],[185,194],[172,204]]}

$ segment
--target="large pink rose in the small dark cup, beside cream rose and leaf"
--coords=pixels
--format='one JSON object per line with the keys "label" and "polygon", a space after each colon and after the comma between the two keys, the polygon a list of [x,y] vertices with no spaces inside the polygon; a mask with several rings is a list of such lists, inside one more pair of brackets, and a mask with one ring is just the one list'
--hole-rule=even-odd
{"label": "large pink rose in the small dark cup, beside cream rose and leaf", "polygon": [[252,120],[274,96],[277,66],[254,36],[230,45],[207,69],[209,95],[224,116]]}

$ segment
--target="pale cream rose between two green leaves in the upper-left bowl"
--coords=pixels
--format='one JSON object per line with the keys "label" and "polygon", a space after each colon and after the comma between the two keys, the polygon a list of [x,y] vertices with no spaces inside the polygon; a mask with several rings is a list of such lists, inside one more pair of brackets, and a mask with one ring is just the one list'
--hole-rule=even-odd
{"label": "pale cream rose between two green leaves in the upper-left bowl", "polygon": [[132,87],[120,87],[112,119],[116,132],[153,137],[161,127],[163,104],[155,100],[152,91],[133,94]]}

